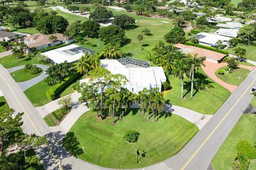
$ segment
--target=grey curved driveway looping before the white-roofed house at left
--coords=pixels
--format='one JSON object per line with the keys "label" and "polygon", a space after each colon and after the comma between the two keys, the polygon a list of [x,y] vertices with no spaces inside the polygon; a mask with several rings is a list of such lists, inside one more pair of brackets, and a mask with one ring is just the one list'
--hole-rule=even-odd
{"label": "grey curved driveway looping before the white-roofed house at left", "polygon": [[[37,67],[41,68],[43,70],[43,72],[38,75],[37,77],[35,77],[34,79],[30,79],[30,80],[27,80],[27,81],[23,81],[23,82],[17,82],[17,84],[20,86],[21,90],[22,91],[25,91],[27,90],[28,88],[34,86],[36,83],[42,81],[44,78],[47,77],[47,75],[44,73],[44,71],[46,69],[49,68],[49,66],[47,65],[43,65],[43,64],[34,64],[36,65]],[[20,70],[20,69],[23,69],[25,67],[25,65],[21,65],[21,66],[17,66],[17,67],[12,67],[10,69],[6,69],[9,73],[11,72],[14,72],[14,71],[17,71],[17,70]]]}

